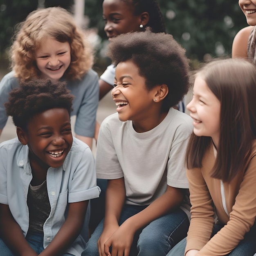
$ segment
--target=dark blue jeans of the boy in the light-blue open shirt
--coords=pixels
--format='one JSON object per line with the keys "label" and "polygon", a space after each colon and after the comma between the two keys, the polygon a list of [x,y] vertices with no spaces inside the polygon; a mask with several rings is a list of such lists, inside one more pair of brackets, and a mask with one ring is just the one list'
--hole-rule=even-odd
{"label": "dark blue jeans of the boy in the light-blue open shirt", "polygon": [[[43,252],[43,234],[33,233],[26,236],[26,240],[31,246],[31,248],[37,253],[40,254]],[[4,241],[0,239],[0,256],[14,256],[13,252],[5,245]],[[74,256],[73,254],[65,253],[63,256]]]}

